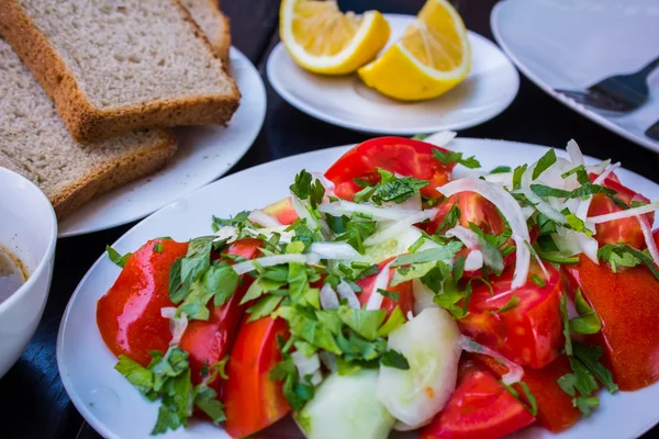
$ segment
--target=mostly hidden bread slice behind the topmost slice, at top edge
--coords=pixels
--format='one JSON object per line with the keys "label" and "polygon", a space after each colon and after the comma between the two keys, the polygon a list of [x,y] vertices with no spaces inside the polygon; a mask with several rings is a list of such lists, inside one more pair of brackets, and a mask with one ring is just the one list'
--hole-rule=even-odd
{"label": "mostly hidden bread slice behind the topmost slice, at top edge", "polygon": [[231,32],[228,18],[222,13],[216,0],[181,0],[192,20],[209,38],[215,55],[222,59],[225,67],[228,64]]}

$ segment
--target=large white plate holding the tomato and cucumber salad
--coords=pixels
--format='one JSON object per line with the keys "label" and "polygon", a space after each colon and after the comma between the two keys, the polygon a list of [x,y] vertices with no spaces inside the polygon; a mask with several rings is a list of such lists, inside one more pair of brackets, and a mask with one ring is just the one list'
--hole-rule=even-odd
{"label": "large white plate holding the tomato and cucumber salad", "polygon": [[[451,149],[476,155],[484,170],[496,166],[516,166],[537,160],[546,147],[503,140],[458,138]],[[185,241],[208,235],[211,216],[228,217],[238,211],[272,203],[289,193],[297,172],[305,168],[325,170],[348,146],[306,153],[260,165],[206,185],[161,209],[142,221],[113,247],[121,254],[133,251],[157,236],[171,236]],[[502,154],[505,151],[505,154]],[[565,150],[557,151],[566,156]],[[595,159],[589,159],[594,162]],[[623,183],[659,200],[659,185],[624,169],[616,171]],[[239,191],[236,188],[241,188]],[[147,402],[113,367],[114,356],[103,344],[96,325],[97,301],[112,286],[120,269],[102,255],[87,272],[64,313],[57,338],[57,365],[71,401],[85,419],[105,438],[148,438],[157,418],[157,404]],[[589,419],[560,435],[527,429],[522,438],[632,438],[659,421],[656,402],[659,383],[638,392],[615,396],[601,393],[602,406]],[[228,438],[221,427],[196,421],[188,429],[166,435],[167,438]],[[301,437],[289,430],[281,437]]]}

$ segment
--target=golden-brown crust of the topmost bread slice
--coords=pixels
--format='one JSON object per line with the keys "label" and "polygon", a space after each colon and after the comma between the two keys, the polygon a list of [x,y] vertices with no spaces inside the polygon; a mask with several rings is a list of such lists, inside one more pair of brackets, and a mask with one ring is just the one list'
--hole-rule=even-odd
{"label": "golden-brown crust of the topmost bread slice", "polygon": [[[216,57],[186,8],[178,0],[171,1],[183,20],[191,24],[197,38]],[[55,101],[57,112],[80,143],[149,127],[226,124],[239,104],[241,93],[230,77],[230,94],[168,99],[101,110],[87,99],[64,59],[15,0],[0,1],[0,34]]]}

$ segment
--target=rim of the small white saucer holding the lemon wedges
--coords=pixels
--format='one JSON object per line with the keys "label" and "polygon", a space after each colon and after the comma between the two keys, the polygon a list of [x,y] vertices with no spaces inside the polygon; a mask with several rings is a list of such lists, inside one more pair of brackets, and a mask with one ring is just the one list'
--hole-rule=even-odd
{"label": "rim of the small white saucer holding the lemon wedges", "polygon": [[[384,13],[383,15],[384,15],[384,18],[388,18],[388,16],[403,18],[403,19],[414,18],[414,15],[396,14],[396,13]],[[496,108],[494,111],[492,111],[491,113],[489,113],[488,115],[485,115],[483,117],[473,119],[467,123],[437,125],[435,127],[429,127],[429,128],[428,127],[411,127],[411,128],[389,130],[389,128],[378,128],[378,127],[372,127],[372,126],[370,126],[370,127],[364,126],[364,125],[359,125],[356,123],[351,123],[349,120],[342,120],[342,119],[335,117],[333,115],[327,115],[323,111],[317,110],[314,106],[309,105],[304,101],[298,99],[295,95],[293,95],[288,90],[286,90],[286,88],[277,80],[272,80],[272,75],[273,75],[273,71],[276,68],[276,67],[273,67],[275,63],[272,60],[275,58],[275,55],[279,56],[279,54],[283,50],[283,52],[286,52],[286,56],[290,56],[288,54],[288,52],[286,50],[283,43],[281,43],[281,42],[277,43],[277,45],[272,48],[272,50],[268,55],[268,60],[266,61],[266,75],[268,77],[268,82],[270,82],[270,85],[272,86],[275,91],[284,101],[287,101],[289,104],[291,104],[295,109],[302,111],[305,114],[309,114],[310,116],[312,116],[314,119],[323,121],[325,123],[340,126],[340,127],[348,128],[348,130],[353,130],[353,131],[356,131],[359,133],[412,136],[415,134],[432,133],[432,132],[445,131],[445,130],[466,130],[466,128],[470,128],[470,127],[480,125],[488,121],[491,121],[492,119],[494,119],[498,115],[500,115],[501,113],[503,113],[511,105],[511,103],[513,103],[513,101],[517,97],[517,93],[520,92],[520,74],[517,72],[517,69],[515,68],[515,65],[509,59],[509,57],[505,55],[505,53],[496,44],[494,44],[491,40],[482,36],[481,34],[478,34],[478,33],[476,33],[473,31],[469,31],[469,30],[467,30],[467,34],[469,35],[470,38],[476,38],[476,40],[480,41],[481,43],[491,45],[491,48],[498,50],[503,56],[505,61],[512,67],[512,70],[514,71],[514,82],[515,82],[514,83],[515,91],[513,93],[511,93],[511,95],[507,97],[505,100],[502,100],[502,102],[504,103],[503,105],[501,105],[500,108]],[[354,75],[354,74],[351,74],[351,75]]]}

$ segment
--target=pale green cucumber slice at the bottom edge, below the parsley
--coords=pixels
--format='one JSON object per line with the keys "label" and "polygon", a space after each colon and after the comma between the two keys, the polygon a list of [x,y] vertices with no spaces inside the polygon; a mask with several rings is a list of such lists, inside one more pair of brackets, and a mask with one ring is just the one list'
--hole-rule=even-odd
{"label": "pale green cucumber slice at the bottom edge, below the parsley", "polygon": [[376,397],[377,370],[332,373],[295,415],[309,439],[387,439],[395,419]]}

